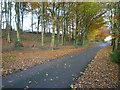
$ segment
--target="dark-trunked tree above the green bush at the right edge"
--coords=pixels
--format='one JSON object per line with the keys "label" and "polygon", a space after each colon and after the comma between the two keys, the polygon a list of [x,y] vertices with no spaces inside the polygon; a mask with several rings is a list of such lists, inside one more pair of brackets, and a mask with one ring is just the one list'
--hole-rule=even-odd
{"label": "dark-trunked tree above the green bush at the right edge", "polygon": [[120,51],[120,2],[114,3],[112,6],[111,11],[113,11],[111,18],[113,18],[112,22],[112,34],[113,34],[113,51],[118,50]]}

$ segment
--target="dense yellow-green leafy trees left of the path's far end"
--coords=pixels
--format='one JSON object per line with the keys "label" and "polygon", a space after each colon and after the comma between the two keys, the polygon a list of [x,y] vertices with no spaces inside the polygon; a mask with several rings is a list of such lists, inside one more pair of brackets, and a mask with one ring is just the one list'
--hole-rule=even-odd
{"label": "dense yellow-green leafy trees left of the path's far end", "polygon": [[75,46],[84,45],[84,42],[89,38],[87,36],[90,30],[100,28],[105,24],[102,16],[105,10],[101,3],[71,3],[70,13],[72,14],[69,15],[69,18],[72,20]]}

